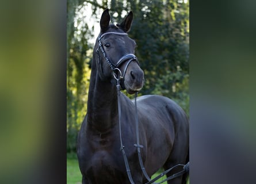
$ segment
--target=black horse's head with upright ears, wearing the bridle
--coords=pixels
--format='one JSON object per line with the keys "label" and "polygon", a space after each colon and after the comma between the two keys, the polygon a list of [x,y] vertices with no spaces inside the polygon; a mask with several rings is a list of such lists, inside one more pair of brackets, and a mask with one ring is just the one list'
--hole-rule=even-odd
{"label": "black horse's head with upright ears, wearing the bridle", "polygon": [[102,81],[120,79],[122,89],[129,94],[142,89],[144,73],[134,55],[136,43],[128,37],[133,14],[129,12],[121,24],[110,24],[109,10],[101,16],[101,32],[95,43],[97,72]]}

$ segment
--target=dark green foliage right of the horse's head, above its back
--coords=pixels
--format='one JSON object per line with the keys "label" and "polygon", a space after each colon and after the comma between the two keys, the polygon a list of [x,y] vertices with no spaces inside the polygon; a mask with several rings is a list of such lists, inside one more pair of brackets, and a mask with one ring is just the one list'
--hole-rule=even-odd
{"label": "dark green foliage right of the horse's head, above its back", "polygon": [[[136,40],[136,56],[145,73],[141,93],[165,95],[181,102],[181,97],[189,97],[188,90],[181,88],[189,78],[189,4],[142,2],[136,5],[131,1],[136,16],[130,33]],[[188,104],[183,108],[188,110]]]}

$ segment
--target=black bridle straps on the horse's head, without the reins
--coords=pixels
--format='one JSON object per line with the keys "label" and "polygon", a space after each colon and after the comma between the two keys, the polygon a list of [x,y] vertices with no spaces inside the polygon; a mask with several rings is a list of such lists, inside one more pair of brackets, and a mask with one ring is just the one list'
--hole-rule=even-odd
{"label": "black bridle straps on the horse's head, without the reins", "polygon": [[[98,57],[100,59],[100,52],[102,53],[102,55],[104,56],[106,62],[109,64],[112,72],[113,72],[113,75],[114,75],[114,78],[117,79],[117,75],[116,74],[116,71],[119,72],[120,74],[120,79],[121,79],[121,89],[125,89],[124,87],[124,76],[126,74],[126,71],[127,71],[127,68],[129,66],[129,64],[132,62],[132,61],[135,61],[138,65],[139,65],[139,61],[137,60],[137,57],[135,55],[133,55],[132,53],[128,53],[127,55],[124,55],[123,57],[121,57],[118,62],[116,64],[114,64],[112,62],[112,60],[109,59],[109,57],[106,55],[106,52],[104,51],[104,48],[102,46],[102,43],[101,43],[101,39],[102,37],[108,35],[108,34],[115,34],[117,36],[128,36],[127,33],[117,33],[117,32],[106,32],[106,33],[103,33],[101,34],[100,37],[98,37],[98,48],[96,50],[97,54],[98,54]],[[120,66],[124,63],[124,62],[127,62],[127,64],[125,65],[125,68],[124,68],[124,75],[122,76],[122,72],[120,70]]]}

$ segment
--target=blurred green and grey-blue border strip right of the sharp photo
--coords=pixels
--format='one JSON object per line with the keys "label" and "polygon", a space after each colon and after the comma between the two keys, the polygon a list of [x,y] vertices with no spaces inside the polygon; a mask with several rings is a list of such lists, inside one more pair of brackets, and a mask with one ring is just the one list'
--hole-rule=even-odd
{"label": "blurred green and grey-blue border strip right of the sharp photo", "polygon": [[190,183],[254,183],[253,1],[190,1]]}

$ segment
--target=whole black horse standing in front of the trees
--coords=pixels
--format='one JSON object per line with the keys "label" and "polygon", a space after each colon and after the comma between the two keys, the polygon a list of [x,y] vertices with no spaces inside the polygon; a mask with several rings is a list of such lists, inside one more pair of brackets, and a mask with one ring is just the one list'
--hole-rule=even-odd
{"label": "whole black horse standing in front of the trees", "polygon": [[[133,55],[136,43],[127,35],[132,17],[130,12],[121,24],[109,25],[109,10],[101,16],[101,32],[93,51],[87,115],[78,135],[77,155],[83,184],[130,183],[120,151],[115,78],[123,75],[120,85],[129,94],[142,89],[144,73]],[[133,146],[136,143],[135,104],[123,93],[120,109],[121,136],[132,179],[135,184],[146,183],[137,148]],[[144,95],[137,98],[137,116],[142,160],[149,177],[161,167],[167,170],[188,162],[189,123],[184,110],[169,98]],[[185,183],[185,176],[168,183]]]}

